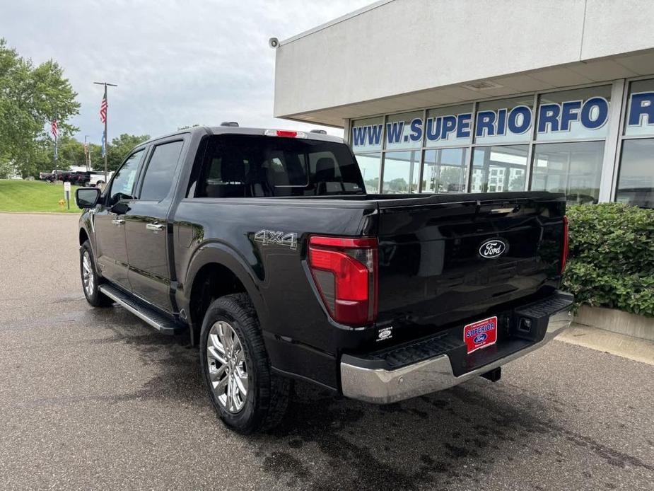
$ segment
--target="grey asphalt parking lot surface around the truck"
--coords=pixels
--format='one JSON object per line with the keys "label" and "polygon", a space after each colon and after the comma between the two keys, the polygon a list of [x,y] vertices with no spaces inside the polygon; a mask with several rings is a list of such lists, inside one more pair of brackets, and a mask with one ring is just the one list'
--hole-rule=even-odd
{"label": "grey asphalt parking lot surface around the truck", "polygon": [[388,406],[297,384],[279,429],[234,434],[186,337],[86,304],[76,225],[0,214],[1,489],[654,487],[654,366],[559,341]]}

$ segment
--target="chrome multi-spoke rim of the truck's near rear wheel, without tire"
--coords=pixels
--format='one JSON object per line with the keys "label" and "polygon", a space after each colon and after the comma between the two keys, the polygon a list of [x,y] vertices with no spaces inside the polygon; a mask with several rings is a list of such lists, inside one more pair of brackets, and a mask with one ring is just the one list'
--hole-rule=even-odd
{"label": "chrome multi-spoke rim of the truck's near rear wheel, without tire", "polygon": [[224,320],[211,326],[206,342],[206,363],[211,388],[229,412],[239,412],[247,398],[245,354],[234,328]]}

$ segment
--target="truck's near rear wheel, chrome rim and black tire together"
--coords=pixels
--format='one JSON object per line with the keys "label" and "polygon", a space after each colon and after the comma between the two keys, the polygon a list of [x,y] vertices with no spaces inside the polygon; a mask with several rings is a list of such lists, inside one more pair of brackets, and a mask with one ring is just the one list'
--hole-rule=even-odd
{"label": "truck's near rear wheel, chrome rim and black tire together", "polygon": [[246,294],[211,303],[202,323],[200,359],[211,402],[228,427],[249,434],[274,427],[284,417],[291,381],[272,373]]}

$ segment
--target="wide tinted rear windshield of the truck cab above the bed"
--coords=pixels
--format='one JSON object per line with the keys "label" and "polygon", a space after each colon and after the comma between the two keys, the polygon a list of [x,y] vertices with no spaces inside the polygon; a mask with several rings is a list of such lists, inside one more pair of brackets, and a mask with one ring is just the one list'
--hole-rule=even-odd
{"label": "wide tinted rear windshield of the truck cab above the bed", "polygon": [[345,144],[332,141],[218,135],[200,164],[195,197],[365,194]]}

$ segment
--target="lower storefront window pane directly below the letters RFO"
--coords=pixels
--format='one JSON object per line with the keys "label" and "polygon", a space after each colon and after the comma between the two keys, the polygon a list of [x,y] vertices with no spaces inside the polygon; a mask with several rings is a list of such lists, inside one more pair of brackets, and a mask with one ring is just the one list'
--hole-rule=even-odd
{"label": "lower storefront window pane directly below the letters RFO", "polygon": [[604,141],[536,145],[532,190],[564,192],[568,202],[597,203],[603,158]]}

